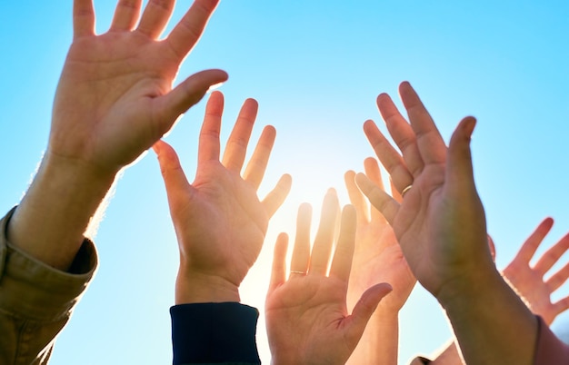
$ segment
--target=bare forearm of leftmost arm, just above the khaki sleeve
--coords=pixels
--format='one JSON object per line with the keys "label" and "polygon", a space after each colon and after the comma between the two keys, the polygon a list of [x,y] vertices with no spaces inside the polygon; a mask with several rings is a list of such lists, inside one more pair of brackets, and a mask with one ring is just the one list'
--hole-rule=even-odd
{"label": "bare forearm of leftmost arm, just above the khaki sleeve", "polygon": [[114,179],[113,173],[46,154],[9,222],[8,241],[55,269],[68,270]]}

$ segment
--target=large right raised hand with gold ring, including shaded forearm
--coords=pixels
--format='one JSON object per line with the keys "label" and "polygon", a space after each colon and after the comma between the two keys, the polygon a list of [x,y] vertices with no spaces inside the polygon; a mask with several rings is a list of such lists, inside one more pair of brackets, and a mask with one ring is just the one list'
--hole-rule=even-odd
{"label": "large right raised hand with gold ring, including shaded forearm", "polygon": [[414,276],[443,305],[464,360],[530,364],[537,321],[488,249],[469,146],[475,120],[464,118],[447,148],[411,85],[399,91],[410,123],[388,95],[379,95],[377,105],[402,155],[373,122],[364,123],[364,132],[397,190],[413,187],[399,204],[364,174],[356,182],[391,223]]}

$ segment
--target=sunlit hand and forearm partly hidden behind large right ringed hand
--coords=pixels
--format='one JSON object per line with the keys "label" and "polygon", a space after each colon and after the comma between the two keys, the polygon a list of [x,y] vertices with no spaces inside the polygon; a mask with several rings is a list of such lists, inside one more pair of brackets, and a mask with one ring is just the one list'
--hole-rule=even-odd
{"label": "sunlit hand and forearm partly hidden behind large right ringed hand", "polygon": [[[364,161],[365,174],[383,189],[379,166],[374,158]],[[364,195],[354,181],[355,173],[345,173],[345,185],[350,202],[357,212],[357,229],[353,270],[348,285],[348,308],[353,308],[362,293],[379,282],[388,282],[393,291],[380,301],[367,324],[348,364],[397,363],[399,311],[413,291],[416,282],[413,272],[404,259],[393,229],[384,216],[368,206]],[[401,201],[399,192],[392,192]]]}

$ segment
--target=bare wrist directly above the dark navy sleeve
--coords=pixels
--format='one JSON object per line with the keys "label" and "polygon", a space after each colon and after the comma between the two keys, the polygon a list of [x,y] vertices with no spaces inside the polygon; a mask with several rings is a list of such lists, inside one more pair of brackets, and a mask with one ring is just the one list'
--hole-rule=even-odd
{"label": "bare wrist directly above the dark navy sleeve", "polygon": [[180,268],[175,282],[175,304],[240,302],[239,286],[217,275]]}

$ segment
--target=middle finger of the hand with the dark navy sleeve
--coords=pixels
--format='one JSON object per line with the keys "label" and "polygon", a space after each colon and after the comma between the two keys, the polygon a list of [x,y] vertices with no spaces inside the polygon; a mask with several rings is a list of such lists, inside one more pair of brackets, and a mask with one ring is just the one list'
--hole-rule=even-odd
{"label": "middle finger of the hand with the dark navy sleeve", "polygon": [[239,116],[237,116],[237,122],[235,122],[235,126],[225,145],[222,163],[228,170],[235,173],[241,173],[243,163],[245,162],[247,145],[249,144],[251,132],[255,125],[257,110],[258,104],[255,99],[245,100],[239,112]]}

